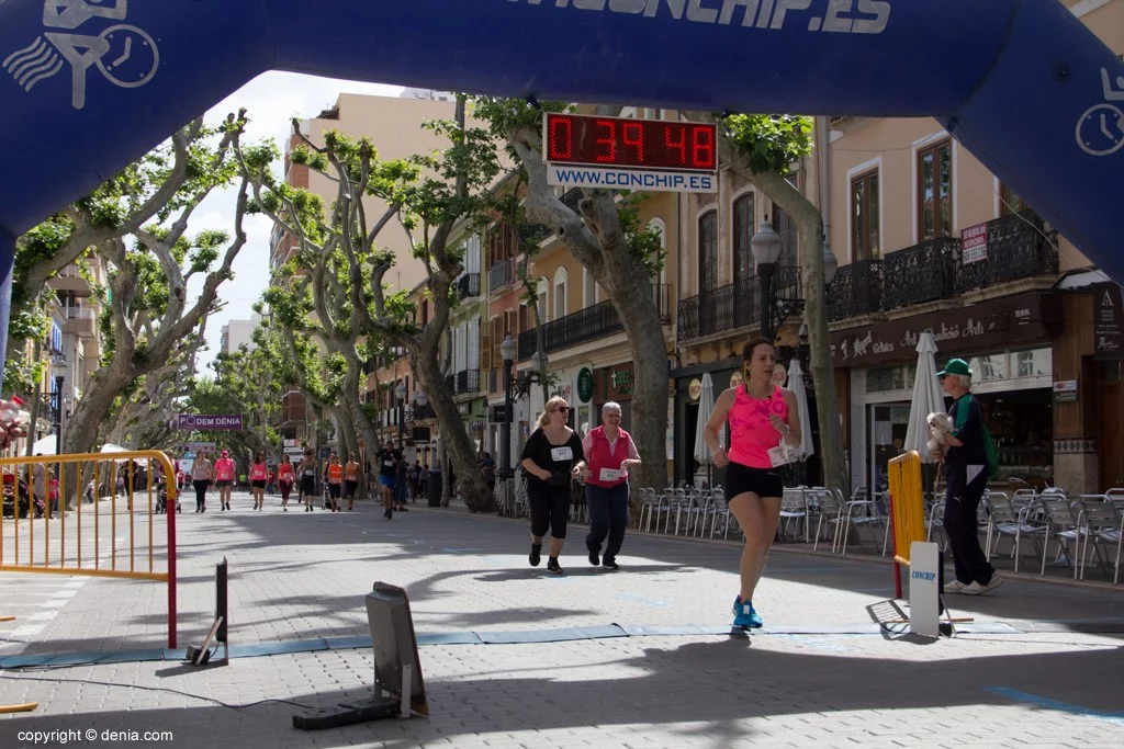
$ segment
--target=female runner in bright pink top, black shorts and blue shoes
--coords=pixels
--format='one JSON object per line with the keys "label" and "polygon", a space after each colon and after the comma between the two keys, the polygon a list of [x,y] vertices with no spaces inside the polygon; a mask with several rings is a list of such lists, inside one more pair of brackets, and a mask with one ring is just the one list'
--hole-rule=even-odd
{"label": "female runner in bright pink top, black shorts and blue shoes", "polygon": [[[777,535],[785,493],[779,468],[788,462],[781,440],[800,444],[800,417],[792,393],[772,383],[777,363],[772,344],[750,341],[742,353],[743,384],[724,391],[707,420],[704,435],[714,465],[726,468],[729,511],[745,533],[742,588],[734,600],[734,627],[761,627],[753,608],[753,590],[761,579],[769,548]],[[718,430],[729,422],[729,453],[718,442]]]}

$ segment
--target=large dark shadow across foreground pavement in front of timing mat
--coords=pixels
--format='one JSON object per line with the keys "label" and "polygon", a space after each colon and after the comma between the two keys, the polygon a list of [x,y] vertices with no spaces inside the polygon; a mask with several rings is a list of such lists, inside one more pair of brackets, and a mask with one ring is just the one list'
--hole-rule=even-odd
{"label": "large dark shadow across foreground pavement in front of timing mat", "polygon": [[[524,648],[525,660],[532,665],[536,652],[547,657],[544,649]],[[592,655],[598,658],[613,654],[601,650]],[[305,741],[306,746],[371,740],[383,747],[417,746],[419,741],[437,739],[455,745],[457,737],[478,742],[480,733],[515,731],[538,731],[544,742],[564,743],[564,734],[551,732],[636,723],[701,732],[716,746],[731,746],[756,736],[745,723],[752,719],[803,716],[808,721],[806,725],[801,721],[787,720],[776,724],[772,731],[807,730],[819,736],[822,727],[831,724],[837,713],[940,707],[971,709],[977,719],[962,724],[961,729],[986,732],[988,729],[979,719],[980,707],[1018,704],[1013,703],[1012,694],[1039,697],[1040,704],[1055,707],[1057,703],[1064,703],[1052,722],[1057,725],[1057,737],[1070,730],[1066,719],[1072,714],[1103,721],[1106,736],[1112,736],[1117,730],[1113,725],[1124,719],[1124,713],[1120,712],[1118,689],[1106,688],[1104,679],[1089,678],[1090,674],[1121,673],[1124,649],[977,658],[950,656],[906,661],[776,651],[745,647],[744,642],[734,640],[691,642],[674,648],[650,648],[641,657],[614,660],[614,675],[605,678],[580,678],[573,673],[552,678],[551,672],[545,672],[543,677],[514,678],[426,676],[428,721],[380,721],[310,734],[291,728],[291,715],[303,709],[278,703],[229,710],[201,706],[189,700],[187,706],[175,710],[108,710],[69,718],[81,719],[82,725],[94,728],[174,730],[178,742],[190,741],[191,746],[232,746],[251,739],[260,743],[274,737]],[[422,658],[424,669],[424,650]],[[626,668],[622,670],[617,666]],[[97,675],[98,669],[92,673]],[[628,677],[623,673],[640,675]],[[161,676],[176,678],[164,687],[138,685],[136,688],[207,695],[208,682],[215,678],[206,673],[185,674],[180,669],[165,669]],[[17,687],[18,681],[25,684]],[[8,687],[4,692],[13,698],[35,700],[36,695],[48,694],[60,682],[81,679],[67,679],[65,674],[0,675],[0,684]],[[132,684],[114,687],[108,696],[124,700],[128,695],[117,693],[127,693],[130,688]],[[290,700],[320,706],[369,696],[369,689],[346,688],[299,694]],[[247,702],[251,698],[247,696]],[[178,703],[181,701],[182,696],[175,698]],[[700,728],[700,723],[706,727]],[[685,725],[676,729],[677,724]],[[0,722],[0,745],[18,746],[13,742],[17,731],[58,728],[58,715],[26,715]],[[948,728],[948,739],[953,743],[957,730],[955,725]],[[1082,723],[1082,730],[1087,733],[1089,723]],[[860,724],[855,731],[871,739],[876,736],[908,739],[909,727],[886,716]],[[761,738],[776,740],[778,737],[762,734]],[[1043,736],[1041,740],[1050,738]]]}

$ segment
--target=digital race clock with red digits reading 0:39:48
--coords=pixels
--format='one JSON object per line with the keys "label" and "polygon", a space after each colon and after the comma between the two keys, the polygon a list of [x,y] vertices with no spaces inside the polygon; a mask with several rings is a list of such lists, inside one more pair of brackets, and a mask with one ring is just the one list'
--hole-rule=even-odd
{"label": "digital race clock with red digits reading 0:39:48", "polygon": [[715,171],[713,124],[550,112],[543,129],[547,162]]}

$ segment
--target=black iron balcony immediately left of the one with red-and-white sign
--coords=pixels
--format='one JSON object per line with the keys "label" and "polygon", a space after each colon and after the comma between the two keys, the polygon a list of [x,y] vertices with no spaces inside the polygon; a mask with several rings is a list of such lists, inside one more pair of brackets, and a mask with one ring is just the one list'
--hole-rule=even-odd
{"label": "black iron balcony immediately left of the one with red-and-white sign", "polygon": [[952,237],[888,253],[882,258],[882,310],[955,296],[959,262],[960,240]]}

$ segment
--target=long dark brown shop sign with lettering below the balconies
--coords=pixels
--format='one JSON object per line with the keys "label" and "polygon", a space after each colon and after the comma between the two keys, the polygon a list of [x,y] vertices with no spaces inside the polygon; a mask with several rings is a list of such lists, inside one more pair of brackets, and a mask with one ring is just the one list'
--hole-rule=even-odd
{"label": "long dark brown shop sign with lettering below the balconies", "polygon": [[921,334],[933,331],[941,353],[958,356],[1005,348],[1013,341],[1046,340],[1061,325],[1055,294],[1034,292],[955,310],[918,314],[832,336],[835,366],[864,367],[917,358]]}

